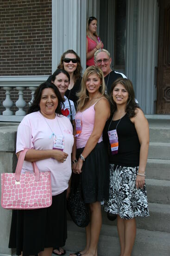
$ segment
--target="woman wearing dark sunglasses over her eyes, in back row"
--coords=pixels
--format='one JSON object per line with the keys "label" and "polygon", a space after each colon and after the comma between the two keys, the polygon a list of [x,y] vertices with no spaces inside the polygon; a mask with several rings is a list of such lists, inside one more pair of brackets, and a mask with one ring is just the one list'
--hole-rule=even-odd
{"label": "woman wearing dark sunglasses over her eyes, in back row", "polygon": [[58,68],[64,69],[69,73],[69,88],[66,91],[65,96],[76,104],[78,100],[76,93],[80,90],[82,81],[82,66],[80,57],[75,51],[67,50],[61,56]]}

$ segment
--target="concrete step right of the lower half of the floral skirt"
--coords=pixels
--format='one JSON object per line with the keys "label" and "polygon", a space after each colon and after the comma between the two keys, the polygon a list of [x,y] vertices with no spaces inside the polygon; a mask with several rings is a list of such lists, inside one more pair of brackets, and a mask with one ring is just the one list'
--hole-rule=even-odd
{"label": "concrete step right of the lower half of the floral skirt", "polygon": [[146,179],[148,202],[170,204],[170,181]]}

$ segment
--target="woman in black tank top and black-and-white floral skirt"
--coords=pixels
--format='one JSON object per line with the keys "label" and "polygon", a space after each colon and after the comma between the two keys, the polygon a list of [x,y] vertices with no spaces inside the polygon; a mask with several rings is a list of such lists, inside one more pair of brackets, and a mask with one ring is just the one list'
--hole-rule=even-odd
{"label": "woman in black tank top and black-and-white floral skirt", "polygon": [[117,79],[110,95],[112,114],[103,132],[110,163],[110,195],[105,210],[117,215],[120,256],[130,256],[136,236],[135,217],[149,216],[145,189],[149,127],[135,102],[130,80]]}

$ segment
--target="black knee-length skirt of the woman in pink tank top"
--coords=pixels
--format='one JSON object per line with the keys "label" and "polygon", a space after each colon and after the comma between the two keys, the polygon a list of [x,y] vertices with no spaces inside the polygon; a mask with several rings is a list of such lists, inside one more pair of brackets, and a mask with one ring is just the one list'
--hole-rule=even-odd
{"label": "black knee-length skirt of the woman in pink tank top", "polygon": [[[83,149],[77,149],[77,159]],[[83,162],[82,191],[86,203],[101,202],[109,197],[109,164],[103,141],[96,144]]]}

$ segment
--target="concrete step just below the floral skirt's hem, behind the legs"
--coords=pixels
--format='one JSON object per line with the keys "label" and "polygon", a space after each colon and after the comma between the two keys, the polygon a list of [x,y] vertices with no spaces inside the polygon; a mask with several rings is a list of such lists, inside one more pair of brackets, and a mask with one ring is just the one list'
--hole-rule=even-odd
{"label": "concrete step just below the floral skirt's hem, behind the legs", "polygon": [[[149,202],[148,217],[136,217],[137,227],[152,231],[170,233],[170,205]],[[107,214],[102,208],[103,224],[116,225],[116,221],[109,221]]]}

